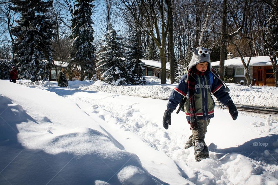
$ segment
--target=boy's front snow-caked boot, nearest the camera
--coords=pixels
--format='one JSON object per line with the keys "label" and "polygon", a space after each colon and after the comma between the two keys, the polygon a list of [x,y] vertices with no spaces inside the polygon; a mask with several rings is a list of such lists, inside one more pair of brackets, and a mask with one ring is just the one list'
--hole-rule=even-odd
{"label": "boy's front snow-caked boot, nearest the camera", "polygon": [[194,155],[197,162],[209,158],[209,148],[204,140],[195,140]]}

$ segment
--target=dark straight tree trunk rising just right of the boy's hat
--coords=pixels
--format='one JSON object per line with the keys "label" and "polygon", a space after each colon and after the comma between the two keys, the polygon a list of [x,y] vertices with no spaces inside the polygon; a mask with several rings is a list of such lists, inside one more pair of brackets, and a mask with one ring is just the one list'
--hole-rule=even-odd
{"label": "dark straight tree trunk rising just right of the boy's hat", "polygon": [[226,55],[226,25],[227,25],[227,0],[223,0],[223,15],[222,15],[222,27],[221,27],[221,41],[220,41],[220,61],[218,74],[220,78],[224,76],[224,64]]}

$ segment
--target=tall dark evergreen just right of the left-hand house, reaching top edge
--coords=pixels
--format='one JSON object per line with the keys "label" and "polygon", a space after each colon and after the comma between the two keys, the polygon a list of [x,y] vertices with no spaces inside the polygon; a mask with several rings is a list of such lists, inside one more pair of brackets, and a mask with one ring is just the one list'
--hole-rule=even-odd
{"label": "tall dark evergreen just right of the left-hand house, reaching top edge", "polygon": [[92,4],[94,0],[76,0],[74,18],[72,18],[72,34],[70,38],[73,39],[71,45],[70,60],[72,64],[81,67],[81,80],[85,75],[92,76],[95,73],[95,59],[94,54],[94,29],[92,25]]}

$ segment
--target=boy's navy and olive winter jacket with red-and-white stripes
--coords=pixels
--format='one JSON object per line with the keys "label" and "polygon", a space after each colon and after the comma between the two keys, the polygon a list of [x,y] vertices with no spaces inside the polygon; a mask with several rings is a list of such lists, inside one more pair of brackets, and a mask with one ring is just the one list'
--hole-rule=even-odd
{"label": "boy's navy and olive winter jacket with red-and-white stripes", "polygon": [[[213,77],[213,75],[209,75],[212,73],[208,71],[205,75],[197,75],[195,76],[195,110],[198,119],[208,120],[214,117],[214,107],[215,103],[211,96],[211,93],[224,105],[227,105],[228,101],[231,101],[231,97],[228,92],[225,92],[224,85],[220,82],[219,79],[213,78],[212,86],[211,80],[209,79]],[[187,85],[187,74],[185,74],[180,80],[179,84],[174,88],[169,97],[169,102],[167,104],[167,108],[175,110],[178,104],[182,101],[184,97],[189,97],[188,93],[188,85]],[[189,114],[189,100],[188,98],[185,101],[185,114],[187,121],[190,121]]]}

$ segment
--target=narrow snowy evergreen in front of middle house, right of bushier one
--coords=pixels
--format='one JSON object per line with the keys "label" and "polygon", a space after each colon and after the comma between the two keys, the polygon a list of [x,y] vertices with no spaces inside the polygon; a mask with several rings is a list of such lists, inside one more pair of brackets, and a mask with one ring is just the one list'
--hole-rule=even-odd
{"label": "narrow snowy evergreen in front of middle house, right of bushier one", "polygon": [[144,63],[140,60],[144,57],[144,51],[140,45],[140,32],[141,30],[133,30],[133,35],[129,38],[130,45],[127,46],[129,51],[124,53],[127,60],[127,81],[129,84],[133,85],[146,84],[146,69]]}

